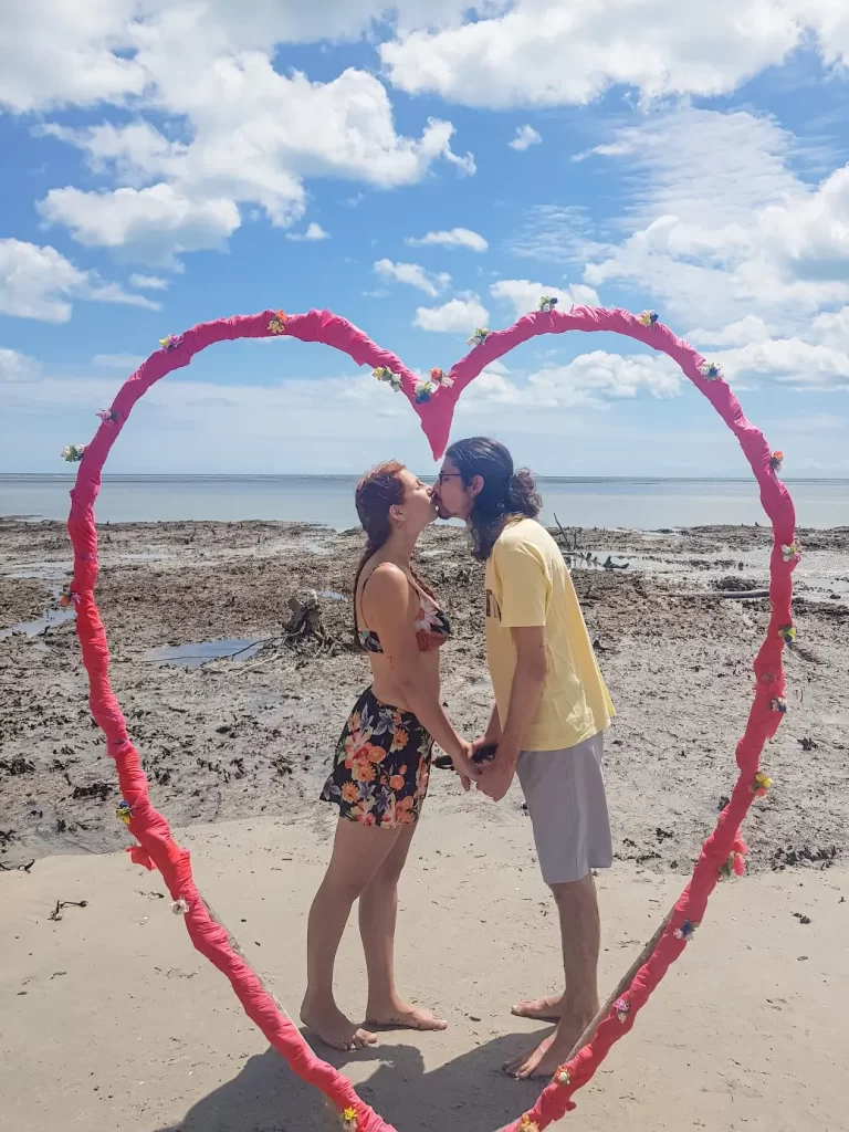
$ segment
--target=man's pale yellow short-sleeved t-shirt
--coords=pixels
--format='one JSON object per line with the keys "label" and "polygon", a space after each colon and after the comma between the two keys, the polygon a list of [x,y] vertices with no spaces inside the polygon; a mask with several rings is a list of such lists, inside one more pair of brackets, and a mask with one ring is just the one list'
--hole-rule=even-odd
{"label": "man's pale yellow short-sleeved t-shirt", "polygon": [[512,628],[546,626],[548,676],[525,751],[574,747],[603,731],[614,705],[560,549],[533,518],[511,522],[487,560],[487,663],[507,719],[516,649]]}

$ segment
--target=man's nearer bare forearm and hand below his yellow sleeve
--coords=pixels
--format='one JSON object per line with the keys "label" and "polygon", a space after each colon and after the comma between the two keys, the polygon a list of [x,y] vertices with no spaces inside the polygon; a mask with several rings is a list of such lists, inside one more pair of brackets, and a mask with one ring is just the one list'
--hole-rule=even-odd
{"label": "man's nearer bare forearm and hand below his yellow sleeve", "polygon": [[[500,801],[511,788],[518,756],[537,715],[548,676],[546,626],[516,626],[511,629],[511,633],[516,649],[516,668],[511,686],[507,719],[498,740],[498,754],[494,762],[482,770],[481,780],[478,783],[478,789],[492,798],[494,801]],[[497,709],[494,709],[492,720],[497,719]],[[490,720],[490,728],[492,720]],[[487,735],[489,735],[489,729]],[[495,740],[490,739],[489,741]]]}

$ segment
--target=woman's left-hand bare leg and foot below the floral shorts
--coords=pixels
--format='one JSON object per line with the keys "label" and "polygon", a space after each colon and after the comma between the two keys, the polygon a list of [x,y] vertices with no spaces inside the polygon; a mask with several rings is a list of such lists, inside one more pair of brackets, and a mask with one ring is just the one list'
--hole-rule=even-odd
{"label": "woman's left-hand bare leg and foot below the floral shorts", "polygon": [[359,1049],[377,1040],[336,1005],[333,968],[353,902],[392,852],[400,833],[401,829],[340,818],[331,864],[309,911],[301,1021],[334,1049]]}

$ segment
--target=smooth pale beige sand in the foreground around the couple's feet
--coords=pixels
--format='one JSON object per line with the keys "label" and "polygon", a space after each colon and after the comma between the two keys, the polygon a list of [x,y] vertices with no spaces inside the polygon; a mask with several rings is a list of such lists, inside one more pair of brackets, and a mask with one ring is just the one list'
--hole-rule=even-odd
{"label": "smooth pale beige sand in the foreground around the couple's feet", "polygon": [[[441,792],[441,791],[440,791]],[[449,1021],[321,1055],[398,1132],[495,1132],[534,1101],[503,1060],[546,1028],[512,1018],[558,986],[559,950],[529,823],[431,799],[402,882],[398,978]],[[297,1015],[309,901],[329,850],[324,812],[179,831],[196,877],[249,960]],[[437,849],[437,846],[439,847]],[[617,867],[599,877],[602,986],[652,934],[679,878]],[[332,1132],[173,916],[156,874],[123,854],[51,857],[0,875],[0,1127],[15,1132]],[[839,1132],[847,1129],[849,875],[786,871],[717,890],[709,915],[634,1030],[577,1094],[560,1127]],[[52,921],[57,900],[66,907]],[[804,925],[797,915],[809,917]],[[365,1007],[355,929],[341,1004]]]}

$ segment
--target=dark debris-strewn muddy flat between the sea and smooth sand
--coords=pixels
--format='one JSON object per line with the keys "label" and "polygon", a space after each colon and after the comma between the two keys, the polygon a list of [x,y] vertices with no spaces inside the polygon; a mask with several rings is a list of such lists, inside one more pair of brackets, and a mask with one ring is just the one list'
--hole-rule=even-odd
{"label": "dark debris-strewn muddy flat between the sea and smooth sand", "polygon": [[[763,600],[720,594],[765,588],[770,531],[568,534],[618,711],[607,770],[617,857],[688,872],[732,784],[769,614]],[[174,522],[106,524],[100,539],[112,681],[155,805],[174,824],[257,814],[309,821],[368,679],[349,648],[360,533]],[[789,713],[764,755],[775,786],[747,823],[754,869],[827,867],[847,844],[849,529],[803,531],[799,542]],[[0,865],[114,850],[128,843],[114,817],[114,770],[88,712],[72,619],[55,612],[70,569],[63,524],[0,520]],[[577,557],[586,552],[621,568],[588,565]],[[455,631],[444,652],[445,702],[477,734],[490,705],[482,569],[454,528],[428,533],[420,566]],[[290,638],[290,599],[310,591],[325,637]],[[498,809],[463,798],[451,779],[434,775],[429,805],[497,825]],[[521,796],[503,805],[520,808]]]}

